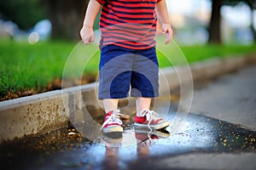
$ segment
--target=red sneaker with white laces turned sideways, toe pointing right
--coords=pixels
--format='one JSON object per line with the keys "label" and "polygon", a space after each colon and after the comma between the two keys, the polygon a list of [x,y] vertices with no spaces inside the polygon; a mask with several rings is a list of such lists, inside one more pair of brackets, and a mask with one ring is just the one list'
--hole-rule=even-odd
{"label": "red sneaker with white laces turned sideways, toe pointing right", "polygon": [[141,115],[142,116],[135,116],[135,127],[159,130],[168,127],[171,124],[169,121],[161,119],[154,111],[149,111],[148,109],[141,111]]}

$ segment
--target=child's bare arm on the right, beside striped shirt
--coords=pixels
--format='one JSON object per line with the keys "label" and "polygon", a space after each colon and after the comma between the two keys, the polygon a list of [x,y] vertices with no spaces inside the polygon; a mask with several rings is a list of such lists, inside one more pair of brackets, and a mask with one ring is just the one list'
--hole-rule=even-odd
{"label": "child's bare arm on the right, beside striped shirt", "polygon": [[166,44],[172,40],[172,26],[166,7],[166,0],[156,3],[156,13],[162,23],[163,33],[166,34]]}

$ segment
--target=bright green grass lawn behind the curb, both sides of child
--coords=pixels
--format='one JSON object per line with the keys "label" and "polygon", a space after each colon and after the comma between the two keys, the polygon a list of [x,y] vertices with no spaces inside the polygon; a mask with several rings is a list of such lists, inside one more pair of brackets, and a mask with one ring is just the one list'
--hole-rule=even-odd
{"label": "bright green grass lawn behind the curb, both sides of child", "polygon": [[[47,91],[49,82],[61,79],[64,65],[75,46],[75,42],[39,42],[34,45],[26,42],[0,42],[0,100],[1,98],[3,100],[7,94],[22,94],[28,90]],[[189,63],[216,56],[256,53],[256,45],[195,45],[179,48]],[[78,62],[81,64],[81,61]],[[84,75],[95,77],[98,62],[99,53],[96,53],[86,65]],[[161,53],[159,53],[159,62],[160,67],[170,65],[168,59]]]}

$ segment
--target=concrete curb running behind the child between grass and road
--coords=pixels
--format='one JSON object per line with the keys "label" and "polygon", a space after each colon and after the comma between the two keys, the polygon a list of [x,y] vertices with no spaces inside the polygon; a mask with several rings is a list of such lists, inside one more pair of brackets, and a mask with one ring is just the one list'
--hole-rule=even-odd
{"label": "concrete curb running behind the child between grass and road", "polygon": [[[236,71],[248,64],[256,63],[256,55],[233,58],[214,58],[190,65],[193,81],[218,77],[229,71]],[[160,84],[167,80],[167,86],[160,86],[160,95],[168,94],[181,83],[188,82],[189,77],[184,67],[161,69]],[[182,72],[177,77],[177,70]],[[55,90],[20,99],[0,102],[0,144],[6,140],[22,138],[26,135],[48,133],[61,127],[67,127],[68,118],[79,120],[74,116],[77,108],[97,105],[96,90],[98,84]],[[65,107],[66,106],[66,107]]]}

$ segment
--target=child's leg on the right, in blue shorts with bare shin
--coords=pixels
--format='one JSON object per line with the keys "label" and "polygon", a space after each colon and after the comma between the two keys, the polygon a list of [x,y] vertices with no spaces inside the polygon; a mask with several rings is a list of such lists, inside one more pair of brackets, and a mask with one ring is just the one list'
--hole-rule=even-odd
{"label": "child's leg on the right, in blue shorts with bare shin", "polygon": [[136,97],[137,116],[159,95],[159,66],[155,48],[139,51],[131,74],[131,96]]}

